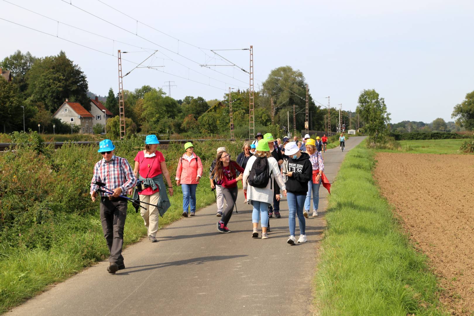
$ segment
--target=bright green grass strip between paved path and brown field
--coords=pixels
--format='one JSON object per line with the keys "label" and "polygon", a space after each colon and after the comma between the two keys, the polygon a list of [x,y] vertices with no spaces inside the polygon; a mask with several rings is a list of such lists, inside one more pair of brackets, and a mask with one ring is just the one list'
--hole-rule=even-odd
{"label": "bright green grass strip between paved path and brown field", "polygon": [[315,276],[321,315],[447,315],[436,278],[372,177],[374,151],[347,153],[328,201]]}

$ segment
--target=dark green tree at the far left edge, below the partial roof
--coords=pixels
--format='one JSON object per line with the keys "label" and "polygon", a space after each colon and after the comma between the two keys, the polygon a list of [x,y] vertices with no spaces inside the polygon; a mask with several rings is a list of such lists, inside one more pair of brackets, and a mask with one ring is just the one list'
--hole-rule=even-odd
{"label": "dark green tree at the far left edge, below the partial roof", "polygon": [[12,127],[23,118],[21,110],[12,85],[0,77],[0,124],[3,125],[3,133],[6,133],[7,126]]}

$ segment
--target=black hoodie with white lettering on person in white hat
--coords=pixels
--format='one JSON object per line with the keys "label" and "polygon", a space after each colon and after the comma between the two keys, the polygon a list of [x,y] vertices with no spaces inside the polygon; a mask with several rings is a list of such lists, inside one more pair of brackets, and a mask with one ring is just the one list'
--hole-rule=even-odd
{"label": "black hoodie with white lettering on person in white hat", "polygon": [[313,167],[310,162],[310,155],[301,153],[300,158],[293,159],[292,156],[288,159],[288,172],[292,171],[293,175],[288,177],[286,181],[286,190],[294,194],[308,193],[308,181],[313,176]]}

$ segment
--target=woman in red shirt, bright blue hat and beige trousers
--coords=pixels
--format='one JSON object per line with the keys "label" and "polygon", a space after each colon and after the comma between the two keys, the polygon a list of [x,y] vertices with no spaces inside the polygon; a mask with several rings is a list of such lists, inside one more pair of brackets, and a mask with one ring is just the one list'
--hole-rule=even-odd
{"label": "woman in red shirt, bright blue hat and beige trousers", "polygon": [[[160,142],[155,135],[146,136],[145,150],[141,150],[137,153],[133,173],[135,173],[137,178],[139,174],[140,178],[145,179],[153,179],[158,175],[163,174],[164,179],[168,184],[168,191],[170,192],[170,195],[173,196],[173,185],[171,183],[168,169],[166,168],[166,163],[164,162],[163,153],[156,150],[158,144],[160,144]],[[155,205],[158,204],[160,193],[166,196],[166,192],[160,192],[159,188],[153,190],[151,186],[138,192],[141,201]],[[148,204],[141,205],[146,208],[140,208],[140,214],[145,222],[145,227],[148,230],[148,240],[152,243],[156,243],[158,241],[156,239],[159,218],[158,208]]]}

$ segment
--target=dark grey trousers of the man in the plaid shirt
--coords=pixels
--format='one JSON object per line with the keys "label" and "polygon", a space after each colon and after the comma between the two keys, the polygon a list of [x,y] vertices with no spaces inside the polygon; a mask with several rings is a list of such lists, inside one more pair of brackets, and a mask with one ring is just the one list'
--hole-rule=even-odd
{"label": "dark grey trousers of the man in the plaid shirt", "polygon": [[122,246],[123,227],[127,218],[126,200],[109,200],[100,198],[100,221],[104,232],[107,247],[109,247],[109,262],[116,262],[123,266]]}

